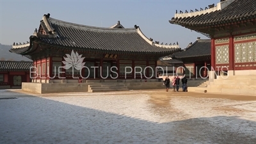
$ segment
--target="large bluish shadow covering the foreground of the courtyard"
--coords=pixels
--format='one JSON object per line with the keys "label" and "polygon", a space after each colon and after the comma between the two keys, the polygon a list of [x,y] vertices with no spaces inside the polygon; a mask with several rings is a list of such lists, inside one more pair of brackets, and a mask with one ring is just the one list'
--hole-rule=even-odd
{"label": "large bluish shadow covering the foreground of the courtyard", "polygon": [[[0,143],[255,143],[256,123],[236,116],[156,123],[33,95],[0,100]],[[2,96],[4,93],[1,94]],[[86,107],[86,106],[85,106]],[[115,108],[115,106],[113,106]],[[216,122],[247,125],[234,129]],[[254,134],[253,134],[254,133]]]}

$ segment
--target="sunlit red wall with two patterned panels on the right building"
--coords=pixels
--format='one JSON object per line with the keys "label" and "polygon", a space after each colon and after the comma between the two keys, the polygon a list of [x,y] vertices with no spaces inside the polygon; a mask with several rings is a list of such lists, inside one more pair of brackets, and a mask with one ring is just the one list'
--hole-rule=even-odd
{"label": "sunlit red wall with two patterned panels on the right building", "polygon": [[215,71],[256,70],[256,32],[212,40]]}

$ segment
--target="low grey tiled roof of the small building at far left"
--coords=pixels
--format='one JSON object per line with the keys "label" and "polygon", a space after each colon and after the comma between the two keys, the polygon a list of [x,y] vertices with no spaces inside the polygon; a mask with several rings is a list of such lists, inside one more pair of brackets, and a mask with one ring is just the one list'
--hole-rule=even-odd
{"label": "low grey tiled roof of the small building at far left", "polygon": [[0,71],[29,71],[32,61],[0,61]]}

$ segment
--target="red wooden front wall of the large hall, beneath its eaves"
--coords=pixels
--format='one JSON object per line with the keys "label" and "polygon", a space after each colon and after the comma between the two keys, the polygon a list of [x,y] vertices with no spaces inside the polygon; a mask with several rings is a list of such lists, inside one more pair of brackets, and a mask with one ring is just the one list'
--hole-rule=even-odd
{"label": "red wooden front wall of the large hall, beneath its eaves", "polygon": [[[44,79],[44,81],[46,81],[45,79],[76,79],[74,77],[82,77],[83,79],[101,79],[101,77],[107,77],[107,79],[112,79],[110,77],[110,74],[112,77],[116,77],[116,73],[118,74],[118,79],[140,79],[141,75],[142,79],[145,79],[146,77],[155,78],[156,72],[156,61],[143,60],[143,58],[141,58],[141,60],[112,60],[87,58],[82,61],[85,64],[83,65],[84,68],[82,68],[81,70],[76,70],[76,68],[74,68],[73,70],[72,68],[69,68],[67,70],[63,61],[65,61],[65,58],[55,57],[34,61],[35,68],[33,70],[33,79],[36,79],[37,82],[39,81],[39,79]],[[87,67],[90,69],[90,74],[88,73],[89,70],[87,69]],[[108,74],[106,74],[107,67],[109,68]],[[111,73],[110,67],[116,67],[111,69],[114,72]],[[131,67],[132,72],[129,73],[131,69],[125,69],[125,67]],[[136,73],[134,72],[135,68]],[[152,72],[152,70],[154,70],[154,72]],[[94,72],[95,77],[94,74],[92,74]],[[60,73],[60,75],[58,75],[58,73]]]}

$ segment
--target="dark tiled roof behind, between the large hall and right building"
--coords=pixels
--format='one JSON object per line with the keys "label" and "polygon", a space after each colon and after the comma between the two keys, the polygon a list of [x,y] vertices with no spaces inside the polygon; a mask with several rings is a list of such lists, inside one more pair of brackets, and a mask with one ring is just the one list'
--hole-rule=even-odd
{"label": "dark tiled roof behind, between the large hall and right building", "polygon": [[211,56],[211,40],[196,40],[188,48],[181,52],[175,52],[172,54],[172,58],[182,59],[182,58],[193,58],[200,56]]}

